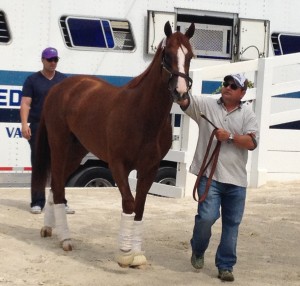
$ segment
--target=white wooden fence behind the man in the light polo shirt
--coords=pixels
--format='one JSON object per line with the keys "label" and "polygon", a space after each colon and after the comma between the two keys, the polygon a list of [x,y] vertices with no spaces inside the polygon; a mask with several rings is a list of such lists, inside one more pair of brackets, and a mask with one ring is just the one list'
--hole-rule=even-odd
{"label": "white wooden fence behind the man in the light polo shirt", "polygon": [[[300,120],[300,98],[278,98],[276,95],[300,91],[300,54],[261,58],[252,61],[215,65],[191,70],[194,95],[200,95],[203,81],[222,81],[227,74],[245,73],[254,82],[245,100],[253,100],[260,138],[257,149],[249,152],[247,165],[250,187],[268,181],[300,180],[299,130],[270,129],[271,125]],[[198,128],[174,104],[172,113],[182,114],[179,135],[166,159],[178,162],[176,186],[153,184],[154,194],[184,197],[192,194],[195,176],[188,172],[193,158]]]}

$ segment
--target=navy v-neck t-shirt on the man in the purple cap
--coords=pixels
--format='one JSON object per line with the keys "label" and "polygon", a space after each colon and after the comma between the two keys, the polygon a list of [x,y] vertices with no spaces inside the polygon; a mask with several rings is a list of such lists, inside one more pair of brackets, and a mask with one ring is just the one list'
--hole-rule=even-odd
{"label": "navy v-neck t-shirt on the man in the purple cap", "polygon": [[55,71],[54,77],[49,80],[39,71],[27,77],[24,82],[22,96],[31,97],[28,122],[39,122],[44,100],[50,88],[61,82],[67,76]]}

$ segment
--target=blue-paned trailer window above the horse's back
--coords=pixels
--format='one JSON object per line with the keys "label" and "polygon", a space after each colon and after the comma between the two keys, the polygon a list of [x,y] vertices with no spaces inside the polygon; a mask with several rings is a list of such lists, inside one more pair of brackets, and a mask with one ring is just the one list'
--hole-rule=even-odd
{"label": "blue-paned trailer window above the horse's back", "polygon": [[60,26],[65,44],[70,48],[114,51],[135,48],[128,21],[63,16]]}

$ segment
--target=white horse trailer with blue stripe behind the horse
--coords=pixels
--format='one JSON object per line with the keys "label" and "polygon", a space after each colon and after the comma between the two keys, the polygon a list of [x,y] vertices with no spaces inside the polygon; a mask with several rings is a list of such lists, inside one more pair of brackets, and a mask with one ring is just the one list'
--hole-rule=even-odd
{"label": "white horse trailer with blue stripe behind the horse", "polygon": [[[298,8],[300,2],[292,0],[1,0],[0,186],[30,182],[30,150],[21,135],[19,107],[22,84],[41,69],[45,47],[58,49],[61,72],[122,85],[149,65],[166,21],[174,31],[195,23],[191,68],[197,69],[300,51]],[[193,93],[211,93],[221,80],[203,81]],[[189,143],[182,145],[188,119],[176,106],[172,118],[173,146],[156,178],[172,187],[154,184],[151,192],[184,196],[186,185],[178,182],[186,180],[197,135],[189,134]],[[107,164],[92,154],[67,182],[70,187],[112,184]]]}

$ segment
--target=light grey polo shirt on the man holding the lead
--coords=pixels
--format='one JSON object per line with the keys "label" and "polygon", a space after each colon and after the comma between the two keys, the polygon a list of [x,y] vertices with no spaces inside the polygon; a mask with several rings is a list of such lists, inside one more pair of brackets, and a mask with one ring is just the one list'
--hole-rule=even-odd
{"label": "light grey polo shirt on the man holding the lead", "polygon": [[[258,140],[258,124],[251,107],[241,104],[237,109],[227,112],[221,99],[209,96],[190,96],[190,105],[185,113],[196,121],[199,127],[198,143],[194,155],[190,172],[198,175],[209,138],[214,127],[201,117],[201,112],[218,128],[223,128],[231,134],[254,133]],[[214,137],[211,152],[217,143]],[[210,156],[208,157],[210,158]],[[221,183],[233,184],[247,187],[246,164],[248,160],[248,150],[242,149],[233,143],[222,142],[218,163],[213,180]],[[204,175],[209,176],[211,164]]]}

